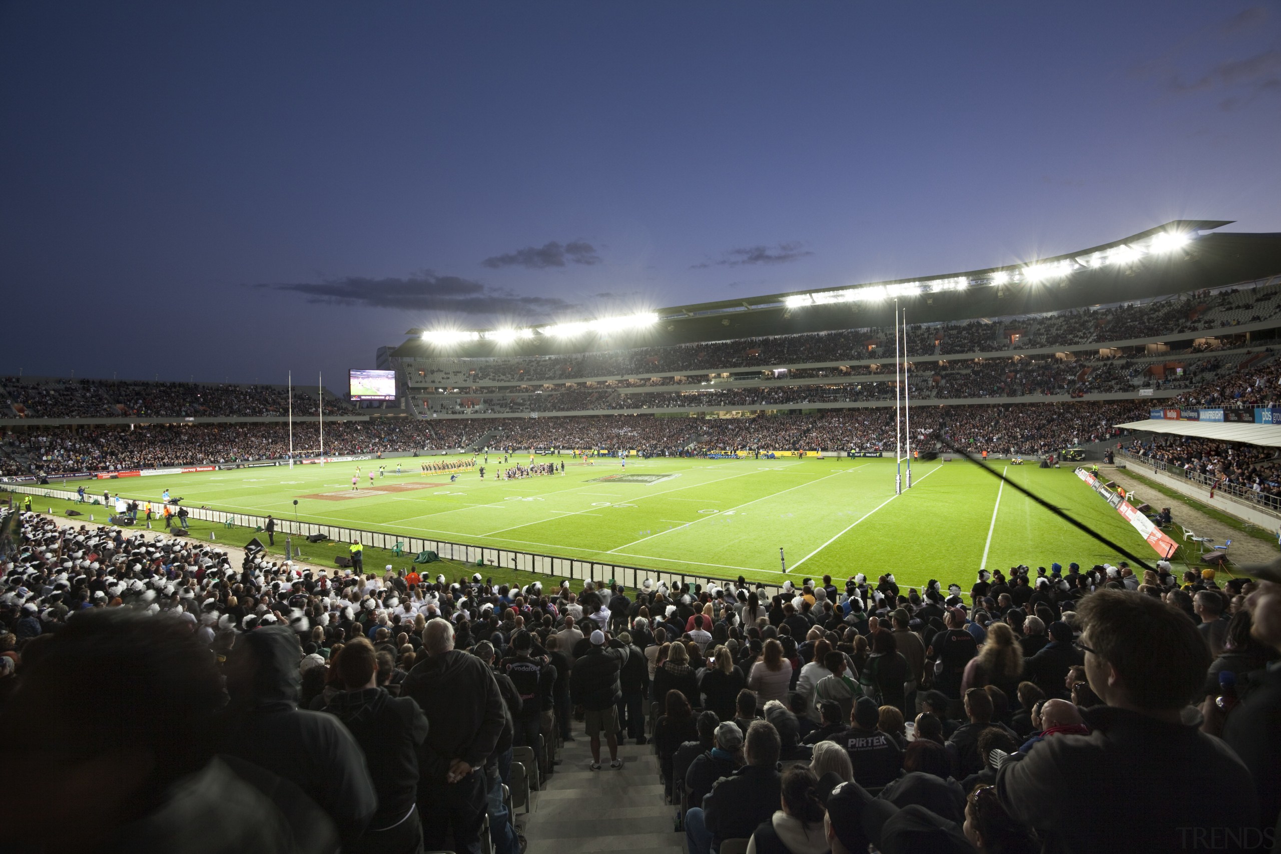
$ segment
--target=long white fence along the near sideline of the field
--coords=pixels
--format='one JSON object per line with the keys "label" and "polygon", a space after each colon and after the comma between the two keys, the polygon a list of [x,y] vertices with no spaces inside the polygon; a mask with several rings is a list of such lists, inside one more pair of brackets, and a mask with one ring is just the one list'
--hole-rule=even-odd
{"label": "long white fence along the near sideline of the field", "polygon": [[[29,487],[22,484],[3,484],[0,490],[13,492],[42,498],[61,498],[76,501],[78,494],[69,489],[54,489],[51,487]],[[110,513],[109,507],[102,507],[105,513]],[[241,525],[245,528],[260,528],[266,524],[265,516],[252,513],[240,513],[224,510],[210,510],[206,507],[187,507],[187,515],[205,522],[215,525]],[[106,525],[106,521],[92,522]],[[370,531],[359,528],[343,528],[339,525],[320,525],[316,522],[295,521],[292,519],[277,519],[275,533],[278,535],[290,534],[292,536],[314,536],[322,534],[330,540],[339,543],[355,543],[370,548],[383,548],[395,551],[397,544],[404,554],[412,560],[420,552],[436,552],[442,558],[471,563],[477,567],[484,561],[485,567],[501,570],[516,570],[519,572],[532,572],[535,575],[548,575],[570,579],[575,581],[608,581],[614,579],[628,589],[639,589],[640,583],[652,579],[655,584],[666,581],[667,586],[675,588],[678,584],[708,584],[725,585],[738,584],[737,579],[724,579],[710,575],[690,575],[688,572],[671,572],[667,570],[646,570],[638,566],[623,563],[605,563],[601,561],[584,561],[571,557],[557,557],[555,554],[539,554],[535,552],[520,552],[506,548],[493,548],[489,545],[470,545],[466,543],[453,543],[451,540],[430,539],[425,536],[406,536],[400,534],[387,534],[383,531]],[[430,566],[430,565],[425,565]],[[798,579],[799,580],[799,579]],[[761,585],[767,595],[775,595],[781,590],[778,584],[763,581],[748,581],[753,588]]]}

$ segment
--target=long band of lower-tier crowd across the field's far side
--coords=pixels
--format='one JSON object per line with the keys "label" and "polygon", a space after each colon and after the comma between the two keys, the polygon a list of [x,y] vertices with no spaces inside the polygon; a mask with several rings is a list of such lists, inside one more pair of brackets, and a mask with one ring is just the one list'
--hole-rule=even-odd
{"label": "long band of lower-tier crowd across the field's far side", "polygon": [[[1143,417],[1132,401],[1002,406],[921,406],[912,411],[916,442],[938,431],[966,449],[1041,455],[1118,435],[1112,424]],[[319,452],[315,424],[293,425],[297,456]],[[626,448],[642,456],[714,451],[893,449],[893,411],[825,410],[813,415],[685,419],[584,415],[543,419],[371,419],[325,425],[327,456],[438,452],[503,447]],[[41,428],[0,438],[0,476],[127,471],[287,458],[284,424],[196,424]]]}

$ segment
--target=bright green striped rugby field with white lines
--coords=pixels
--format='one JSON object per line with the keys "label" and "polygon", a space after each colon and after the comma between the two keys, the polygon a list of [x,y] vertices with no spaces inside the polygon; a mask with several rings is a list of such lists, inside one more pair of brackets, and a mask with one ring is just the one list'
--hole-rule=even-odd
{"label": "bright green striped rugby field with white lines", "polygon": [[[433,457],[439,460],[441,457]],[[512,462],[528,462],[528,455]],[[616,460],[567,456],[566,474],[496,481],[475,472],[423,475],[421,458],[374,481],[370,463],[260,467],[86,484],[129,498],[163,489],[191,507],[274,513],[328,525],[602,561],[690,575],[780,580],[894,572],[901,584],[968,581],[983,566],[1117,561],[977,466],[918,462],[916,485],[894,495],[893,460]],[[395,472],[396,460],[382,461]],[[361,466],[360,489],[351,476]],[[1155,553],[1070,469],[998,463],[998,471],[1149,561]],[[415,487],[416,484],[416,487]],[[74,488],[74,485],[72,485]],[[998,506],[999,492],[999,506]],[[323,495],[323,497],[322,497]]]}

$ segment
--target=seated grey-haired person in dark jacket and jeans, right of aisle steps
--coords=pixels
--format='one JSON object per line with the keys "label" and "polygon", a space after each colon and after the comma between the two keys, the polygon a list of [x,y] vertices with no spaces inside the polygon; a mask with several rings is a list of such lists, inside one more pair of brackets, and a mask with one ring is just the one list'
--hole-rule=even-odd
{"label": "seated grey-haired person in dark jacket and jeans, right of aisle steps", "polygon": [[772,723],[756,721],[747,729],[742,768],[721,778],[703,798],[703,805],[685,813],[689,854],[710,854],[726,839],[749,839],[761,822],[779,808],[783,781],[779,752],[783,741]]}

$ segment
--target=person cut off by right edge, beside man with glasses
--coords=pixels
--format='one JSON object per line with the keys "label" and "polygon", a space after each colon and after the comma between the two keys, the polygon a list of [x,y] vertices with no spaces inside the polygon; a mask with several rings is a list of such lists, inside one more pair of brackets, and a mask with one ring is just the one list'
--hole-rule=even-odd
{"label": "person cut off by right edge, beside man with glasses", "polygon": [[[1281,650],[1281,568],[1273,563],[1255,571],[1259,580],[1245,597],[1252,634],[1259,643]],[[1264,671],[1249,697],[1227,716],[1223,740],[1254,776],[1261,826],[1281,828],[1281,773],[1277,772],[1281,768],[1281,667],[1273,665]],[[1281,839],[1281,832],[1273,830],[1273,840]]]}

